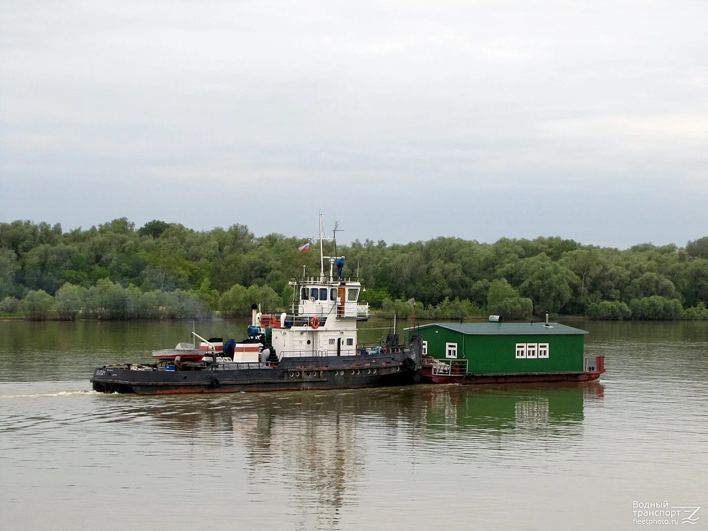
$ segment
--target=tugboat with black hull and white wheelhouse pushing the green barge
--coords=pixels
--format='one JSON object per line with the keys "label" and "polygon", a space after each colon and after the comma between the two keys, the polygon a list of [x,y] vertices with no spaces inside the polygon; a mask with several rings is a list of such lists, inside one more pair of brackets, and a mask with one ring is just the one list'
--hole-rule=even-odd
{"label": "tugboat with black hull and white wheelhouse pushing the green barge", "polygon": [[[343,278],[344,256],[324,256],[320,215],[320,274],[290,282],[290,312],[261,314],[253,305],[248,338],[240,343],[204,339],[200,348],[179,343],[156,350],[156,362],[104,365],[93,371],[93,390],[105,393],[177,394],[297,389],[351,389],[418,382],[422,341],[403,345],[391,333],[379,346],[357,341],[357,324],[369,317],[357,278]],[[324,270],[329,260],[329,274]],[[337,275],[333,267],[337,265]]]}

